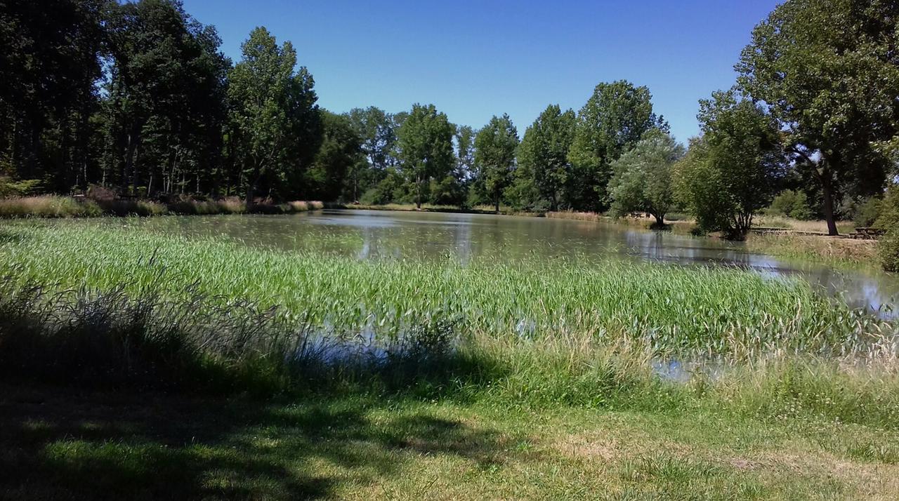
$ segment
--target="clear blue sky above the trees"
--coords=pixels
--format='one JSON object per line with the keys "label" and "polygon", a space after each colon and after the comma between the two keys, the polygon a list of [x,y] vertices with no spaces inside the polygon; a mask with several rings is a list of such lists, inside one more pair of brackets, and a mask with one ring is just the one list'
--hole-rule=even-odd
{"label": "clear blue sky above the trees", "polygon": [[647,85],[686,141],[697,100],[734,83],[752,26],[775,0],[184,0],[227,56],[255,26],[291,40],[328,110],[433,103],[483,126],[508,113],[519,135],[547,104],[578,110],[600,82]]}

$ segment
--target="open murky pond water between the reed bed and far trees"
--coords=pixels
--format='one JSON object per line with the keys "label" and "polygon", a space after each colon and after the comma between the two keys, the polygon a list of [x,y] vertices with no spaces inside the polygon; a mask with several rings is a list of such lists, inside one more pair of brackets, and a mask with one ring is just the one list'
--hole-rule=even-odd
{"label": "open murky pond water between the reed bed and far trees", "polygon": [[[106,222],[114,222],[107,219]],[[119,220],[120,221],[120,220]],[[895,315],[899,279],[836,270],[747,251],[740,242],[651,232],[621,224],[510,215],[324,210],[298,215],[165,216],[128,224],[165,233],[214,236],[283,250],[315,249],[357,259],[546,259],[596,256],[681,265],[749,268],[800,277],[853,308]]]}

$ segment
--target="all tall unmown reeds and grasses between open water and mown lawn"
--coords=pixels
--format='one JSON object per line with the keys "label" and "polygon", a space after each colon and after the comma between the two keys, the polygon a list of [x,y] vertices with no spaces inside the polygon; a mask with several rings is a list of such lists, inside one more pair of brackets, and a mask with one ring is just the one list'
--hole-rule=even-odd
{"label": "all tall unmown reeds and grasses between open water and mown lawn", "polygon": [[[31,222],[0,227],[0,277],[7,377],[899,423],[894,323],[742,269],[359,261]],[[689,382],[654,371],[672,359]]]}

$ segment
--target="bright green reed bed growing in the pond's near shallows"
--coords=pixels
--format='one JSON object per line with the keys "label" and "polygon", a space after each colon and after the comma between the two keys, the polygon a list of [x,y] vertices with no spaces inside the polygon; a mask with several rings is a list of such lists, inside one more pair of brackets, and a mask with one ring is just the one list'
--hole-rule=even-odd
{"label": "bright green reed bed growing in the pond's near shallows", "polygon": [[[360,261],[138,228],[9,224],[0,271],[15,280],[277,307],[319,329],[392,336],[434,319],[490,338],[622,338],[658,356],[889,349],[895,326],[834,306],[804,283],[735,268],[612,259]],[[160,279],[162,273],[163,278]],[[162,283],[160,283],[162,280]]]}

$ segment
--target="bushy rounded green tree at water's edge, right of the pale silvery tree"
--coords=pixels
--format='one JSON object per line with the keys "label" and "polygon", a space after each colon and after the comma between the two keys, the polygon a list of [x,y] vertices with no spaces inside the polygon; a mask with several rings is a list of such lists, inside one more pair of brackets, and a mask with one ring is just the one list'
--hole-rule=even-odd
{"label": "bushy rounded green tree at water's edge, right of the pale silvery tree", "polygon": [[700,227],[742,240],[787,173],[779,124],[733,91],[699,101],[698,118],[703,136],[675,167],[678,197]]}

